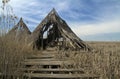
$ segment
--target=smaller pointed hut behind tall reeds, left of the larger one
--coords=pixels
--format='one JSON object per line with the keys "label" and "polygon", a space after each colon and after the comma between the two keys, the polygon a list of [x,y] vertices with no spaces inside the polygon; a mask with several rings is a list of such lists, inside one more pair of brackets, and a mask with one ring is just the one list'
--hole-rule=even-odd
{"label": "smaller pointed hut behind tall reeds, left of the larger one", "polygon": [[8,35],[10,35],[12,39],[22,42],[27,41],[30,34],[30,30],[22,18],[20,18],[19,22],[8,32]]}

